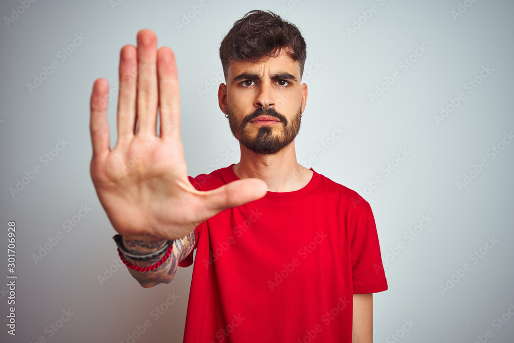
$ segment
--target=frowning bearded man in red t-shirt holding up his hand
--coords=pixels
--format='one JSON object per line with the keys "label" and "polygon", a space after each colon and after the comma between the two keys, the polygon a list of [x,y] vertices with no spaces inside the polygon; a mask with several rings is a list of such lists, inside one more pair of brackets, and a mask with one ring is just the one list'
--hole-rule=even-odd
{"label": "frowning bearded man in red t-shirt holding up his hand", "polygon": [[121,49],[113,150],[108,85],[94,84],[91,177],[129,272],[143,287],[169,283],[196,248],[185,342],[373,341],[372,293],[388,286],[370,205],[296,160],[305,49],[271,12],[234,24],[219,49],[218,102],[241,160],[196,178],[179,135],[175,58],[152,31]]}

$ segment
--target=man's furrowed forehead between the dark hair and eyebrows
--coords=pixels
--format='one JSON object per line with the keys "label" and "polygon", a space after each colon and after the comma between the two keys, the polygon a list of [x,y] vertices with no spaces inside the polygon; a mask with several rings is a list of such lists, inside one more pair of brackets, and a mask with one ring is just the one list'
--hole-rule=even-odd
{"label": "man's furrowed forehead between the dark hair and eyebrows", "polygon": [[300,79],[300,62],[294,61],[284,50],[281,50],[277,56],[263,59],[256,63],[248,61],[230,61],[228,78],[231,80],[235,76],[243,73],[256,73],[262,77],[278,72],[287,72]]}

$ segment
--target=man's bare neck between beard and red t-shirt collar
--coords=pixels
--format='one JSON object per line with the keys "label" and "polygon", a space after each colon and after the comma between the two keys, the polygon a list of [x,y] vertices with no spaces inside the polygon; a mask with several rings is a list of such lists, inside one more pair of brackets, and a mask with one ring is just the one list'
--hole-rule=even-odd
{"label": "man's bare neck between beard and red t-shirt collar", "polygon": [[295,141],[276,154],[260,155],[241,143],[241,161],[232,168],[239,178],[255,177],[268,185],[270,192],[292,192],[305,187],[313,171],[296,160]]}

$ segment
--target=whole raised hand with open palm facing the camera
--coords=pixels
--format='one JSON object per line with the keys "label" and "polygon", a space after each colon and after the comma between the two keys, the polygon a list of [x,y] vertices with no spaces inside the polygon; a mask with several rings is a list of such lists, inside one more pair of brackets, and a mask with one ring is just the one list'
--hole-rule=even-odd
{"label": "whole raised hand with open palm facing the camera", "polygon": [[121,49],[119,78],[118,140],[112,150],[105,79],[95,81],[90,102],[91,178],[118,233],[127,239],[145,233],[179,239],[216,213],[265,195],[266,184],[252,178],[207,192],[191,185],[180,139],[175,56],[168,47],[157,50],[154,32],[139,31],[137,48]]}

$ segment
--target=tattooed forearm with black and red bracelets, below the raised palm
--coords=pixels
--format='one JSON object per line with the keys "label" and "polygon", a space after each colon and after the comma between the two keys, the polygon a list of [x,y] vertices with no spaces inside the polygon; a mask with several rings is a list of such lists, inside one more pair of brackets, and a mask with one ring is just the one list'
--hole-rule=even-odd
{"label": "tattooed forearm with black and red bracelets, below the raised palm", "polygon": [[[167,240],[165,239],[137,241],[123,238],[123,246],[126,250],[134,255],[151,254],[152,252],[162,248],[164,245],[166,245],[166,243]],[[159,283],[170,283],[175,277],[178,269],[178,260],[175,254],[175,250],[175,247],[173,247],[172,253],[168,259],[154,270],[149,272],[138,272],[137,270],[128,268],[128,272],[130,272],[130,274],[139,282],[139,284],[145,288],[154,287]],[[125,259],[133,265],[146,267],[160,261],[165,254],[166,251],[163,251],[158,256],[149,260],[136,260],[130,257],[125,257]]]}

